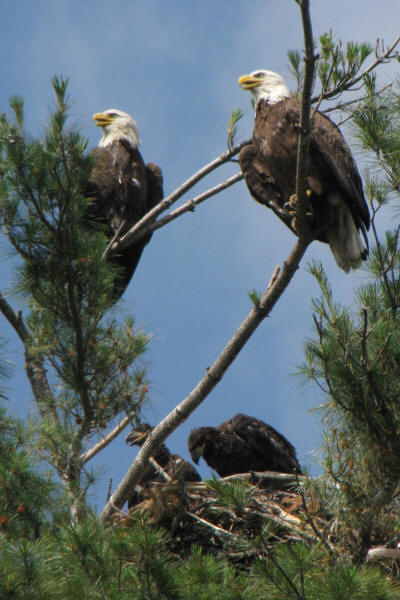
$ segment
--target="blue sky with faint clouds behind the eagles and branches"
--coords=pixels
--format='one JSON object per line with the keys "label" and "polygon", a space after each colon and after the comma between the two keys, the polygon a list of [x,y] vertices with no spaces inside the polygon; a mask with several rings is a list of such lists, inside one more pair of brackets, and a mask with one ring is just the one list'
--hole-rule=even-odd
{"label": "blue sky with faint clouds behind the eagles and branches", "polygon": [[[398,0],[314,0],[311,14],[315,36],[332,28],[343,41],[375,44],[383,38],[390,43],[400,29]],[[6,0],[0,35],[1,112],[7,112],[11,95],[24,96],[27,128],[40,134],[53,105],[50,80],[55,74],[67,76],[71,116],[89,146],[99,140],[93,113],[119,108],[132,114],[143,157],[162,168],[166,194],[226,149],[232,109],[245,111],[237,140],[250,137],[250,97],[239,88],[238,77],[268,68],[293,86],[287,51],[302,47],[294,0]],[[379,72],[382,82],[395,73],[390,65]],[[184,200],[237,171],[235,164],[222,167]],[[243,182],[153,235],[115,309],[133,312],[153,334],[147,355],[150,422],[157,423],[197,384],[248,314],[248,292],[265,289],[293,243],[289,230],[250,198]],[[6,249],[4,243],[1,248]],[[351,301],[352,289],[365,275],[345,275],[329,250],[315,242],[270,318],[214,392],[169,438],[174,452],[188,457],[191,428],[216,425],[240,411],[286,435],[300,462],[316,472],[313,453],[321,431],[309,410],[322,398],[292,376],[312,333],[311,298],[318,290],[306,265],[313,258],[323,261],[336,298]],[[5,254],[0,269],[5,291],[12,279]],[[17,365],[9,382],[10,407],[25,414],[32,404],[22,348],[5,320],[0,322]],[[120,436],[99,457],[96,464],[103,468],[93,498],[99,506],[108,479],[117,485],[134,454]],[[204,464],[201,473],[209,473]]]}

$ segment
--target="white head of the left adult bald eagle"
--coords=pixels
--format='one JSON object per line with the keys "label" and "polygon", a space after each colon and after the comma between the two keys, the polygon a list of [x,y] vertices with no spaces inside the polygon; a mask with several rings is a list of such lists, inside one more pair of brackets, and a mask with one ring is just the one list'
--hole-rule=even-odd
{"label": "white head of the left adult bald eagle", "polygon": [[139,132],[136,122],[128,113],[116,108],[109,108],[102,113],[93,115],[96,127],[101,127],[103,137],[99,142],[100,147],[110,146],[113,142],[124,140],[133,148],[138,148]]}

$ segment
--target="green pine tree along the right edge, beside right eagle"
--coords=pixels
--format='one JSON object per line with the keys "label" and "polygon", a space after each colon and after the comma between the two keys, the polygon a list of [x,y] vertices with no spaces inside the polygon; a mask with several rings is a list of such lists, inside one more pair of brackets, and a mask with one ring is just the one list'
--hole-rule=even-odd
{"label": "green pine tree along the right edge, beside right eagle", "polygon": [[304,373],[326,393],[324,405],[330,502],[351,552],[364,560],[376,544],[397,541],[400,478],[398,309],[399,226],[379,234],[379,217],[396,205],[400,181],[400,94],[377,94],[374,77],[354,113],[358,136],[375,156],[366,191],[372,209],[373,244],[367,282],[355,309],[340,306],[321,264],[311,267],[322,296],[313,303],[316,338],[306,347]]}

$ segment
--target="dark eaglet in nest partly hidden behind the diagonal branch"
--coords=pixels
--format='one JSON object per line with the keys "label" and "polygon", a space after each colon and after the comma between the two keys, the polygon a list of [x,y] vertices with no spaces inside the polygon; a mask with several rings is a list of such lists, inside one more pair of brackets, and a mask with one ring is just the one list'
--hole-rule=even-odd
{"label": "dark eaglet in nest partly hidden behind the diagonal branch", "polygon": [[[141,423],[135,429],[132,429],[125,437],[125,441],[130,446],[143,446],[148,435],[153,431],[153,427],[147,423]],[[165,444],[160,444],[152,458],[162,467],[162,469],[173,480],[180,481],[201,481],[201,477],[196,469],[179,454],[171,454]],[[128,508],[141,502],[146,497],[146,491],[149,491],[155,482],[165,483],[166,479],[157,470],[156,466],[149,464],[144,476],[137,486],[134,495],[128,500]]]}

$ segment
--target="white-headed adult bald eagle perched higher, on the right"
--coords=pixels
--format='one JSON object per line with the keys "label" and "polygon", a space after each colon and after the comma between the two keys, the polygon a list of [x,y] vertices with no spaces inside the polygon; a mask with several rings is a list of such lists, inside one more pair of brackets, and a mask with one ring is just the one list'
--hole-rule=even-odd
{"label": "white-headed adult bald eagle perched higher, on the right", "polygon": [[[290,212],[295,204],[301,101],[290,98],[282,77],[271,71],[242,75],[239,85],[256,101],[252,143],[239,156],[247,187],[296,233]],[[314,238],[329,244],[338,266],[347,273],[368,254],[369,211],[357,166],[339,128],[319,111],[311,109],[311,117],[310,225]]]}

